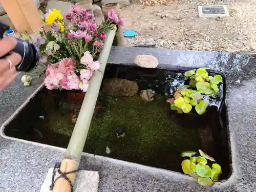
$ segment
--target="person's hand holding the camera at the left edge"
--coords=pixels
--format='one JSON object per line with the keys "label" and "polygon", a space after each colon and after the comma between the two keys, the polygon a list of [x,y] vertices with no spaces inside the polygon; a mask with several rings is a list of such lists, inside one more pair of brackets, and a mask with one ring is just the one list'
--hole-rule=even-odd
{"label": "person's hand holding the camera at the left edge", "polygon": [[[17,44],[13,37],[5,37],[0,40],[0,57],[9,53]],[[0,90],[6,88],[17,75],[15,66],[22,61],[22,57],[14,52],[5,58],[0,59]]]}

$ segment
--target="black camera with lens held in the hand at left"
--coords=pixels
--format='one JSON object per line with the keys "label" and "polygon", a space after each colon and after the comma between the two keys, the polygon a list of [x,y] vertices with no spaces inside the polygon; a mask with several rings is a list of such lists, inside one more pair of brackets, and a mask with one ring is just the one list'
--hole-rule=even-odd
{"label": "black camera with lens held in the hand at left", "polygon": [[[0,22],[0,39],[4,37],[4,33],[9,29],[10,27],[8,25]],[[36,46],[29,44],[27,41],[18,38],[16,40],[17,45],[11,52],[18,53],[22,57],[22,61],[15,66],[16,71],[29,72],[37,66],[40,52]],[[0,57],[0,59],[5,58],[9,54],[10,53],[7,53]]]}

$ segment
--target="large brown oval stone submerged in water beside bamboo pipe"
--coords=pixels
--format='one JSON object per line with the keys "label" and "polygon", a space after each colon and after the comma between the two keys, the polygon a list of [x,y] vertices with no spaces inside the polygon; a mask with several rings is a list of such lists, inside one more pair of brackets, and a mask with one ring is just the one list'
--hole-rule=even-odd
{"label": "large brown oval stone submerged in water beside bamboo pipe", "polygon": [[138,93],[139,87],[135,81],[111,78],[103,80],[102,91],[108,96],[133,96]]}

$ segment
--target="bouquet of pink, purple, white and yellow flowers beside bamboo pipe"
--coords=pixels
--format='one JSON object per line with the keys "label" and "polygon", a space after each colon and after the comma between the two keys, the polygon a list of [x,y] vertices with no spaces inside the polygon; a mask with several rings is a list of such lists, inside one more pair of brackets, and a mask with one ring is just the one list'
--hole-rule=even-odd
{"label": "bouquet of pink, purple, white and yellow flowers beside bamboo pipe", "polygon": [[[100,68],[97,61],[106,34],[113,25],[123,25],[117,13],[111,10],[108,19],[97,26],[94,15],[71,6],[64,22],[60,11],[50,10],[42,18],[52,30],[42,38],[28,36],[28,41],[38,46],[40,55],[46,58],[45,85],[47,89],[81,90],[86,92],[90,78]],[[24,75],[22,81],[29,86],[32,78]]]}

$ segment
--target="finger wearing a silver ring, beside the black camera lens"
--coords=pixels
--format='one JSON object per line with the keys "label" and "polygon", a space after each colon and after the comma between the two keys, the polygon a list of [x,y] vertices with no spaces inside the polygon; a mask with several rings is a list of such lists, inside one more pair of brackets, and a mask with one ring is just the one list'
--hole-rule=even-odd
{"label": "finger wearing a silver ring, beside the black camera lens", "polygon": [[0,59],[0,75],[4,74],[10,69],[10,63],[7,59],[12,62],[12,66],[15,68],[14,66],[18,65],[18,63],[22,60],[22,57],[18,53],[13,52],[4,59]]}

